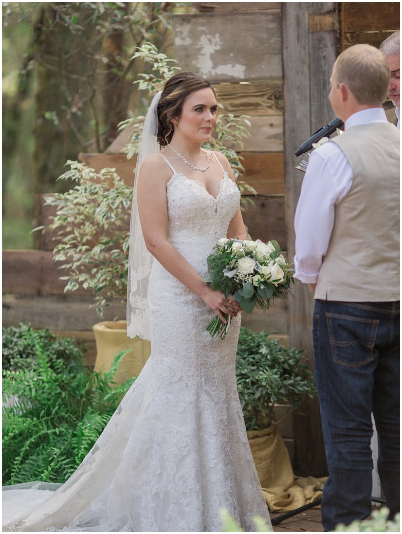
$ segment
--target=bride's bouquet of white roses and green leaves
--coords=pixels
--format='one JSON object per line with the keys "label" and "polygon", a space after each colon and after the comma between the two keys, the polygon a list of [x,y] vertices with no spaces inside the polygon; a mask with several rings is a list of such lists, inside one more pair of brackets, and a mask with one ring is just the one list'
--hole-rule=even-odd
{"label": "bride's bouquet of white roses and green leaves", "polygon": [[[293,265],[282,256],[277,241],[219,239],[207,258],[208,277],[204,281],[214,290],[233,295],[240,308],[251,313],[257,306],[268,310],[274,297],[290,292]],[[231,316],[223,314],[227,323],[216,316],[207,327],[212,336],[225,339]]]}

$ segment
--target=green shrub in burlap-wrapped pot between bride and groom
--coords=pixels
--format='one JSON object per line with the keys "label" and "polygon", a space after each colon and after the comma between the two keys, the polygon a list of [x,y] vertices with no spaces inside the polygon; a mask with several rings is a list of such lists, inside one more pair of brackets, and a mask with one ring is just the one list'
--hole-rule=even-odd
{"label": "green shrub in burlap-wrapped pot between bride and groom", "polygon": [[[275,420],[275,407],[285,404],[289,413],[301,404],[304,395],[317,394],[303,351],[284,347],[265,332],[241,328],[236,379],[251,453],[270,509],[302,506],[303,489],[287,491],[294,485],[294,474],[278,432],[280,421]],[[311,480],[302,486],[321,484],[321,480]]]}

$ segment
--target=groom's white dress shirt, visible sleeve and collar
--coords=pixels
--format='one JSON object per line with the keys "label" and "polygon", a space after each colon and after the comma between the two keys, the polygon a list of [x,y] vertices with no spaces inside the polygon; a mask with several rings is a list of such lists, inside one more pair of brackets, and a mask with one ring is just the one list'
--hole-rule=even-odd
{"label": "groom's white dress shirt, visible sleeve and collar", "polygon": [[[345,130],[368,122],[387,122],[383,108],[354,113]],[[295,213],[294,277],[305,284],[317,282],[334,226],[334,207],[349,193],[352,180],[352,168],[338,145],[325,143],[312,151]]]}

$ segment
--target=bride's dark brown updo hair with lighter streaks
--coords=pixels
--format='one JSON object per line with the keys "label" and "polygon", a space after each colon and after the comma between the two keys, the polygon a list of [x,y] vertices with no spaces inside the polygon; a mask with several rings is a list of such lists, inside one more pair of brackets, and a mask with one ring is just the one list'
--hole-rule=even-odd
{"label": "bride's dark brown updo hair with lighter streaks", "polygon": [[185,100],[195,91],[200,89],[211,89],[216,97],[215,89],[208,80],[204,80],[193,72],[179,72],[173,75],[166,82],[162,91],[159,104],[157,105],[157,142],[160,146],[166,146],[170,143],[175,131],[172,119],[179,119],[182,114]]}

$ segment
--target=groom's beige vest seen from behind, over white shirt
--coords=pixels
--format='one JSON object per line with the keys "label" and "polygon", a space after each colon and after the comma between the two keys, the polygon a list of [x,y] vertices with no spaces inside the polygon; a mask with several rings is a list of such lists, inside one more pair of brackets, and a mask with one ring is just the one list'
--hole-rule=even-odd
{"label": "groom's beige vest seen from behind, over white shirt", "polygon": [[353,126],[331,139],[348,158],[353,183],[335,206],[315,299],[399,300],[399,139],[389,122]]}

